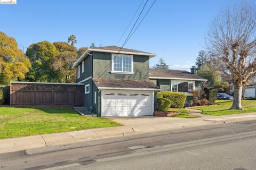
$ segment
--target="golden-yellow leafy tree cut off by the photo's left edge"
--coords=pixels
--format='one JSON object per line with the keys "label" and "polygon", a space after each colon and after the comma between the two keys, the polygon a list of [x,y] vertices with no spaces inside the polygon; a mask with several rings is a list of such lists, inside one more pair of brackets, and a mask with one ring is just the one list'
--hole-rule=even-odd
{"label": "golden-yellow leafy tree cut off by the photo's left edge", "polygon": [[30,66],[16,40],[0,32],[0,84],[25,79]]}

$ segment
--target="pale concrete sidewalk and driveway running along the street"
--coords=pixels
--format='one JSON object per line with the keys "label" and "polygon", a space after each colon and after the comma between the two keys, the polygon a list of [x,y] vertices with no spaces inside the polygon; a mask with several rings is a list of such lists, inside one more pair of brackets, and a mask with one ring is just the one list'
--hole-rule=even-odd
{"label": "pale concrete sidewalk and driveway running along the street", "polygon": [[198,112],[191,114],[200,114],[202,117],[111,117],[111,120],[122,123],[124,126],[3,139],[0,140],[0,153],[156,131],[190,128],[214,123],[256,120],[256,113],[225,116],[209,116]]}

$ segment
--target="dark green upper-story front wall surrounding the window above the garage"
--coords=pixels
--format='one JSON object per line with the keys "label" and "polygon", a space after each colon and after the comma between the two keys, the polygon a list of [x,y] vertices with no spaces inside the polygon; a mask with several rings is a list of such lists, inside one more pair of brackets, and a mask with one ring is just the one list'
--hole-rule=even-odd
{"label": "dark green upper-story front wall surrounding the window above the garage", "polygon": [[113,74],[111,53],[93,52],[93,77],[109,79],[149,79],[149,56],[133,55],[134,74]]}

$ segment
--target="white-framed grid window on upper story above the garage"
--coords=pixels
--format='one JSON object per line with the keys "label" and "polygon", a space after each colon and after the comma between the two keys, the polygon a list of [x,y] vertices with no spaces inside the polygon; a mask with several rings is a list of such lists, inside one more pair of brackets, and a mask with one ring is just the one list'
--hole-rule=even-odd
{"label": "white-framed grid window on upper story above the garage", "polygon": [[132,73],[133,56],[125,54],[112,54],[111,73]]}

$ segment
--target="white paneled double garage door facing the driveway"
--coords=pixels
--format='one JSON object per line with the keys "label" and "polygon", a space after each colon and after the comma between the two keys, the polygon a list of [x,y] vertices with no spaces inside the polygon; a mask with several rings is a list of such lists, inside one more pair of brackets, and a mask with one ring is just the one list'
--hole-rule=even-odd
{"label": "white paneled double garage door facing the driveway", "polygon": [[101,116],[151,116],[153,91],[102,90]]}

